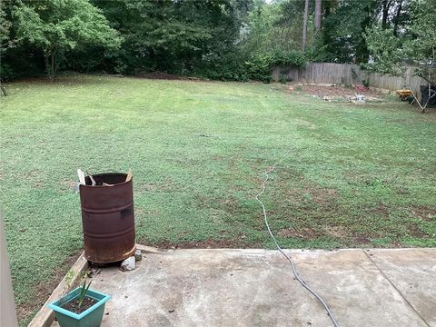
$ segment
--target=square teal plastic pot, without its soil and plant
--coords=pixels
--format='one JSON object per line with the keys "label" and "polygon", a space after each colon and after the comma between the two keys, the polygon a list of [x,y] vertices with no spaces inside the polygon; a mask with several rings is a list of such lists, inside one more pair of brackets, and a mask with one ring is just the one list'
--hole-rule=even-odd
{"label": "square teal plastic pot, without its soil and plant", "polygon": [[86,291],[86,296],[93,298],[97,302],[84,312],[70,312],[61,306],[61,303],[64,304],[76,299],[81,290],[82,287],[77,287],[72,292],[66,294],[63,298],[48,304],[48,307],[54,311],[57,322],[59,322],[61,327],[98,327],[102,323],[104,303],[111,299],[109,295],[102,292],[96,292],[91,289]]}

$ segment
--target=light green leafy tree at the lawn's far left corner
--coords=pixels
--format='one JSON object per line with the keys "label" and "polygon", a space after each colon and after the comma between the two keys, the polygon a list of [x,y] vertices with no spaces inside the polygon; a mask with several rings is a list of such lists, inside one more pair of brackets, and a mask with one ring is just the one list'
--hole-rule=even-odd
{"label": "light green leafy tree at the lawn's far left corner", "polygon": [[13,8],[21,42],[41,48],[53,77],[66,51],[85,45],[116,49],[121,37],[87,0],[18,1]]}

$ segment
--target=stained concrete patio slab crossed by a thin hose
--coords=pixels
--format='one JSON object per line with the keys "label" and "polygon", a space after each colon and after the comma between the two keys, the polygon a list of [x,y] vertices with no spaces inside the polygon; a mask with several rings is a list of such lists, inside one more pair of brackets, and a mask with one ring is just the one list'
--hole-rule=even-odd
{"label": "stained concrete patio slab crossed by a thin hose", "polygon": [[[436,249],[290,253],[341,326],[436,326]],[[92,287],[113,296],[102,326],[332,326],[275,251],[143,256],[133,272],[94,277]]]}

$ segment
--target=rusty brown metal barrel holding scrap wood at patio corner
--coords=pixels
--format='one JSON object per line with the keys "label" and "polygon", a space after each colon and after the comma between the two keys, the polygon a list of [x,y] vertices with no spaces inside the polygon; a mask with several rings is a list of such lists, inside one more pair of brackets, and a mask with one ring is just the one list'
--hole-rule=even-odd
{"label": "rusty brown metal barrel holding scrap wood at patio corner", "polygon": [[93,263],[119,262],[135,251],[133,181],[125,182],[125,173],[93,177],[95,186],[89,176],[80,185],[84,255]]}

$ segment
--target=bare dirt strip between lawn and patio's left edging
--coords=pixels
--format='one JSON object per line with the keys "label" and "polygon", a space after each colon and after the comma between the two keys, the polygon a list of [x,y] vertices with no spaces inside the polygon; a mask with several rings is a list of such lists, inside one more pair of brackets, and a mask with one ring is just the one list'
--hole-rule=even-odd
{"label": "bare dirt strip between lawn and patio's left edging", "polygon": [[82,250],[74,253],[72,256],[66,259],[61,267],[54,271],[49,280],[40,282],[35,287],[35,294],[32,296],[31,300],[16,305],[16,315],[19,321],[26,319],[30,314],[35,313],[44,305],[50,294],[64,278],[65,273],[76,262],[77,258],[80,256],[80,253],[82,253]]}

